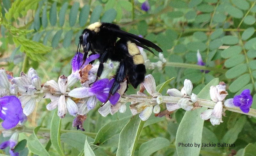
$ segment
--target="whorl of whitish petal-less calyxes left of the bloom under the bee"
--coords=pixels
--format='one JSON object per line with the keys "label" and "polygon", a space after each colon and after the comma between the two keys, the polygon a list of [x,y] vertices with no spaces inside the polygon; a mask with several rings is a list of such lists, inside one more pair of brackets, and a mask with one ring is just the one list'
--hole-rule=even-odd
{"label": "whorl of whitish petal-less calyxes left of the bloom under the bee", "polygon": [[[64,118],[67,109],[70,115],[76,116],[78,107],[76,103],[67,96],[68,78],[65,75],[59,77],[58,83],[54,80],[45,82],[44,90],[48,90],[51,94],[46,94],[45,98],[50,98],[52,102],[46,105],[46,109],[51,111],[58,106],[58,116]],[[55,96],[52,96],[55,94]]]}

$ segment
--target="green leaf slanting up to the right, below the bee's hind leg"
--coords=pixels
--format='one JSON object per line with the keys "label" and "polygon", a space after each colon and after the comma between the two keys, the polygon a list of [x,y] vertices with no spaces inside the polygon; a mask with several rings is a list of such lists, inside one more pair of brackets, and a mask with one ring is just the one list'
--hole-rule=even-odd
{"label": "green leaf slanting up to the right, below the bee's hind leg", "polygon": [[97,133],[93,144],[104,144],[108,139],[120,133],[127,121],[131,117],[125,117],[120,120],[110,121],[104,125]]}

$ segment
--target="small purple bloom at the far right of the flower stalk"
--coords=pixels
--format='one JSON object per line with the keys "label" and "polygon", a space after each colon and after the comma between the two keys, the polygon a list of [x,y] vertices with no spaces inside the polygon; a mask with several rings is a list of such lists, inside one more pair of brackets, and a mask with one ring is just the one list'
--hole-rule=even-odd
{"label": "small purple bloom at the far right of the flower stalk", "polygon": [[244,90],[240,95],[234,97],[233,103],[236,107],[239,107],[242,112],[248,113],[252,105],[252,96],[250,90]]}

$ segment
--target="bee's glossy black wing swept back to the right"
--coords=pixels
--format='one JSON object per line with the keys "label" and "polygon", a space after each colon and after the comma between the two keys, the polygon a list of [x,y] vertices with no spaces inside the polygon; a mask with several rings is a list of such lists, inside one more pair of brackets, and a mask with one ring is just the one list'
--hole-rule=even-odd
{"label": "bee's glossy black wing swept back to the right", "polygon": [[[150,50],[148,47],[151,47],[153,49],[155,49],[158,52],[163,52],[163,50],[158,47],[156,44],[152,43],[151,41],[146,40],[145,38],[141,38],[137,35],[128,33],[126,31],[120,30],[120,29],[115,29],[115,28],[111,28],[108,27],[107,28],[109,31],[112,31],[113,33],[115,33],[115,35],[119,38],[128,38],[130,41],[132,41],[133,43],[135,43],[137,46],[147,49],[148,51],[150,51],[151,53],[154,54],[154,52],[152,50]],[[147,47],[146,47],[147,46]]]}

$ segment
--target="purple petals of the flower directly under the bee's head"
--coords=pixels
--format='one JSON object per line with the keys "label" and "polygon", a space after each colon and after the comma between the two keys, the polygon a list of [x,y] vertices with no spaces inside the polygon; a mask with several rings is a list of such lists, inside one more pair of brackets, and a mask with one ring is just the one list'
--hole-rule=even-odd
{"label": "purple petals of the flower directly under the bee's head", "polygon": [[[84,62],[84,65],[89,64],[91,61],[97,59],[100,57],[100,54],[94,54],[90,55],[88,58],[86,58],[86,61]],[[77,53],[73,59],[72,59],[72,73],[75,73],[78,71],[82,65],[83,62],[83,54],[82,53]]]}

